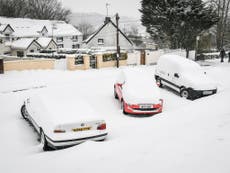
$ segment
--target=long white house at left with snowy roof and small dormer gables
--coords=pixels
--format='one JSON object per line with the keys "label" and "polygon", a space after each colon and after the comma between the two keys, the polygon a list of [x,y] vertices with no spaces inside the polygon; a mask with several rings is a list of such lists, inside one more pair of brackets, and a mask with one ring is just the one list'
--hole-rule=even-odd
{"label": "long white house at left with snowy roof and small dormer gables", "polygon": [[83,38],[80,31],[64,21],[0,17],[0,47],[7,42],[40,37],[52,38],[58,48],[65,49],[79,48]]}

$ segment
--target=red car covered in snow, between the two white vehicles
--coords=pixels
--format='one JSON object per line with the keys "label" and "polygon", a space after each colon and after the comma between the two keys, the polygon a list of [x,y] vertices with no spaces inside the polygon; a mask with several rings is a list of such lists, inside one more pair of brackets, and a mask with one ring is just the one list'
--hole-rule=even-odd
{"label": "red car covered in snow, between the two white vehicles", "polygon": [[114,84],[114,97],[121,102],[124,114],[162,112],[159,88],[154,79],[141,70],[124,69]]}

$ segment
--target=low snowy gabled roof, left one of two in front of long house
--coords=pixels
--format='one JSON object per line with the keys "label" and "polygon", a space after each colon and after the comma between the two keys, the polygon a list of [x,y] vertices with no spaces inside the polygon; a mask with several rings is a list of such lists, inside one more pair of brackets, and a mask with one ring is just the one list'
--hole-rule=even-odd
{"label": "low snowy gabled roof, left one of two in front of long house", "polygon": [[22,38],[22,39],[13,41],[10,46],[11,46],[12,49],[26,50],[34,42],[41,47],[41,45],[36,40],[34,40],[33,38]]}

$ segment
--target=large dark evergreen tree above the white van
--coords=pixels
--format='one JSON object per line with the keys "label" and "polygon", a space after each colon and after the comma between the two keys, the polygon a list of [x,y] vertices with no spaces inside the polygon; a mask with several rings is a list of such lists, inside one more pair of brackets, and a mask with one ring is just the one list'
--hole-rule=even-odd
{"label": "large dark evergreen tree above the white van", "polygon": [[142,0],[142,24],[157,42],[194,49],[196,37],[218,22],[216,8],[202,0]]}

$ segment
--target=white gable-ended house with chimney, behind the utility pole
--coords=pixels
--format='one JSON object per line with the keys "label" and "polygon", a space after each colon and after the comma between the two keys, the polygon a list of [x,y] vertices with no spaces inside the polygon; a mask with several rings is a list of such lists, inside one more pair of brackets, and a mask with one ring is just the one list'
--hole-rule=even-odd
{"label": "white gable-ended house with chimney, behind the utility pole", "polygon": [[[89,38],[84,40],[83,47],[91,49],[113,49],[117,45],[117,26],[110,17],[105,18],[104,24]],[[133,49],[133,42],[119,29],[119,45],[123,50]]]}

